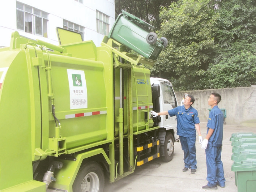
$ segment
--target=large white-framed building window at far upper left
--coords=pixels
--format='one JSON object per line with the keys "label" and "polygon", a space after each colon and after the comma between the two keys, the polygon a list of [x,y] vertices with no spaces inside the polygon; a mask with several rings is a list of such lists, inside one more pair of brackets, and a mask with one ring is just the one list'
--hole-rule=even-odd
{"label": "large white-framed building window at far upper left", "polygon": [[49,14],[28,5],[16,2],[17,29],[26,33],[48,37]]}

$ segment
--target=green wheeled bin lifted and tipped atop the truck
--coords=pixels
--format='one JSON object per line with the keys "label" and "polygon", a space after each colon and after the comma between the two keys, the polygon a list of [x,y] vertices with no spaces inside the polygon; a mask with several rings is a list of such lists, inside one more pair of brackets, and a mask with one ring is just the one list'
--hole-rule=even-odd
{"label": "green wheeled bin lifted and tipped atop the truck", "polygon": [[167,46],[167,39],[157,38],[157,34],[146,31],[154,28],[140,18],[122,10],[116,19],[108,38],[112,38],[146,59],[156,60],[162,49]]}

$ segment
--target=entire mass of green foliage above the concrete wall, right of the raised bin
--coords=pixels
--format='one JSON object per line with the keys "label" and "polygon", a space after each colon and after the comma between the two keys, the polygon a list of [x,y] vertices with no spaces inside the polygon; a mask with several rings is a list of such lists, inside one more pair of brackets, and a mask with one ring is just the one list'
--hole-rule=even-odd
{"label": "entire mass of green foliage above the concrete wall, right of the raised bin", "polygon": [[163,8],[159,37],[168,39],[153,76],[175,90],[256,84],[256,3],[252,0],[179,0]]}

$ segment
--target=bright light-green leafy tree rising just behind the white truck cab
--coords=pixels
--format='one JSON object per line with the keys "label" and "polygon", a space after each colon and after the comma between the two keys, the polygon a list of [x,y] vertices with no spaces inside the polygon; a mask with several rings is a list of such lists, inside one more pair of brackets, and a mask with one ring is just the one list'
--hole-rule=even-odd
{"label": "bright light-green leafy tree rising just behind the white truck cab", "polygon": [[213,62],[217,21],[210,0],[180,0],[163,8],[159,37],[168,39],[152,74],[172,81],[176,90],[205,88],[206,70]]}

